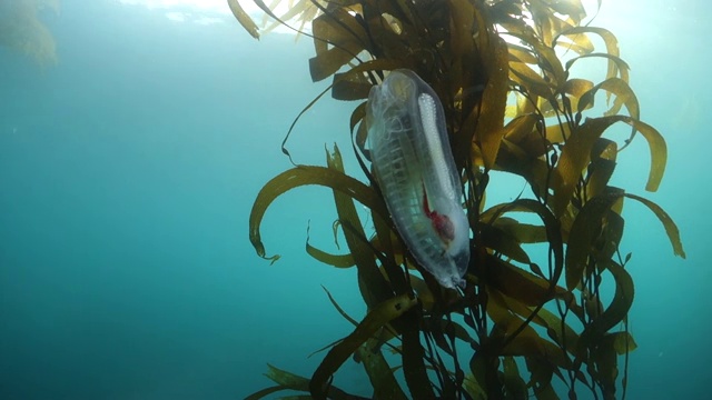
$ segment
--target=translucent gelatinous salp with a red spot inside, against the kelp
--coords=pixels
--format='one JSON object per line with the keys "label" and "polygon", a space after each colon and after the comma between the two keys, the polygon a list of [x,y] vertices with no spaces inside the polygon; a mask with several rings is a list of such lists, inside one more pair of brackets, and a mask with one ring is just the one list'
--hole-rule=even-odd
{"label": "translucent gelatinous salp with a red spot inside, against the kelp", "polygon": [[462,287],[469,224],[437,96],[413,71],[393,71],[370,90],[366,123],[374,176],[396,229],[442,286]]}

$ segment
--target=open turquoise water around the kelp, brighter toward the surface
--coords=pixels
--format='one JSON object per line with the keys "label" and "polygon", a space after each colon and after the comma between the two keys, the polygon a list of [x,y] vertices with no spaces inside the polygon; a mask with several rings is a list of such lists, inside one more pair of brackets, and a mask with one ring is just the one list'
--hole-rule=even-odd
{"label": "open turquoise water around the kelp, brighter toward the surface", "polygon": [[[712,54],[702,20],[712,7],[649,2],[634,18],[621,3],[606,2],[595,24],[617,36],[669,164],[645,194],[639,138],[614,183],[663,206],[688,253],[674,258],[657,220],[626,204],[639,344],[629,398],[705,399]],[[304,251],[308,226],[313,243],[333,247],[330,193],[300,189],[270,208],[274,266],[247,227],[261,186],[290,167],[287,128],[326,88],[309,80],[312,42],[258,42],[224,13],[180,22],[115,1],[65,1],[59,17],[42,17],[56,67],[0,48],[0,399],[239,399],[270,386],[267,362],[310,376],[323,353],[307,356],[352,330],[320,286],[364,312],[355,271]],[[288,142],[295,161],[323,164],[335,140],[350,152],[353,107],[325,98],[305,114]],[[354,363],[335,383],[369,394]]]}

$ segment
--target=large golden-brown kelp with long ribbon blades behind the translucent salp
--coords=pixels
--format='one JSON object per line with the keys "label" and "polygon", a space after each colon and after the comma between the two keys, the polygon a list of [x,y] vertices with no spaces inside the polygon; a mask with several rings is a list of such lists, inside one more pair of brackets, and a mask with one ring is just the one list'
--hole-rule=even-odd
{"label": "large golden-brown kelp with long ribbon blades behind the translucent salp", "polygon": [[[249,398],[284,389],[357,398],[333,382],[349,358],[363,366],[378,399],[624,397],[627,354],[636,348],[627,323],[632,258],[620,249],[624,201],[647,207],[673,253],[685,253],[660,206],[610,184],[617,158],[636,137],[650,149],[647,191],[659,189],[668,152],[662,134],[640,119],[615,36],[584,23],[580,0],[303,0],[280,16],[273,11],[279,1],[254,2],[295,31],[310,23],[301,33],[314,40],[312,79],[330,78],[334,99],[360,101],[348,127],[366,180],[345,171],[336,147],[326,152],[326,167],[295,166],[257,196],[250,241],[274,262],[278,256],[267,256],[259,232],[271,201],[305,184],[329,188],[334,236],[344,236],[348,251],[333,254],[308,238],[306,250],[328,266],[356,268],[367,312],[358,321],[329,293],[353,332],[324,349],[310,378],[270,366],[277,386]],[[259,38],[237,0],[228,3]],[[600,41],[603,49],[594,46]],[[605,62],[600,82],[574,73],[591,60]],[[395,69],[416,72],[445,110],[472,230],[462,290],[442,288],[414,261],[368,168],[365,99]],[[622,143],[609,138],[613,126],[627,129]],[[487,204],[498,183],[494,171],[520,176],[526,192]],[[355,201],[370,211],[373,230]]]}

